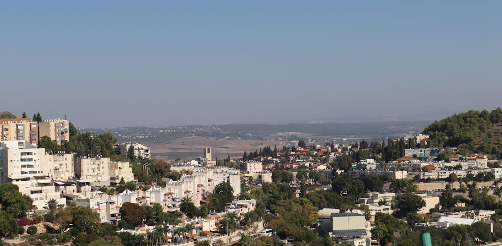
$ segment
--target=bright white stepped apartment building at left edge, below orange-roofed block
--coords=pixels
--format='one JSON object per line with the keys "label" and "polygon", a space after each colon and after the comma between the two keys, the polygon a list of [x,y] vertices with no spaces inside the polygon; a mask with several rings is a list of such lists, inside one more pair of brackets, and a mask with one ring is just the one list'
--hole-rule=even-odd
{"label": "bright white stepped apartment building at left edge, below orange-roofed block", "polygon": [[45,149],[37,149],[26,140],[0,141],[0,182],[30,177],[47,177]]}

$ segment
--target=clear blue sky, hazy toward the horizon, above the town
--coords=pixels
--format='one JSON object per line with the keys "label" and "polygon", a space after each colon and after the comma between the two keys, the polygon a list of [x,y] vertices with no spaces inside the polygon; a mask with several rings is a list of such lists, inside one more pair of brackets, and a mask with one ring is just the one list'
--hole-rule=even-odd
{"label": "clear blue sky, hazy toward the horizon, above the town", "polygon": [[80,128],[501,106],[500,1],[4,1],[0,110]]}

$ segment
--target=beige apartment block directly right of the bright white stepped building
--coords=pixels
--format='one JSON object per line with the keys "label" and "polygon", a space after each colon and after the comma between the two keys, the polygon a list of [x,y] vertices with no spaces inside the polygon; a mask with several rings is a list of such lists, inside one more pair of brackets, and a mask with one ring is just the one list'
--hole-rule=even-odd
{"label": "beige apartment block directly right of the bright white stepped building", "polygon": [[75,176],[73,172],[73,154],[57,153],[45,156],[47,175],[53,180],[69,180]]}

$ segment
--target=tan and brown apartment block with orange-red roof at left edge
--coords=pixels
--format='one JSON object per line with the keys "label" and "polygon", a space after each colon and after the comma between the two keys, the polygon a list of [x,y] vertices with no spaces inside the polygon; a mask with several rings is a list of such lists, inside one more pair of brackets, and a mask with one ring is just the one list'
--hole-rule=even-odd
{"label": "tan and brown apartment block with orange-red roof at left edge", "polygon": [[37,146],[38,122],[30,118],[0,119],[0,141],[26,140],[33,146]]}

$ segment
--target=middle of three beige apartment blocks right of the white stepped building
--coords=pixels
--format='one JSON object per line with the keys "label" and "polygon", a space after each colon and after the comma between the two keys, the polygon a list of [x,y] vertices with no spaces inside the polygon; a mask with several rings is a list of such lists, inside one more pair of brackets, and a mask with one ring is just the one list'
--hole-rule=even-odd
{"label": "middle of three beige apartment blocks right of the white stepped building", "polygon": [[87,156],[73,160],[75,175],[83,180],[92,180],[93,185],[110,185],[110,158]]}

